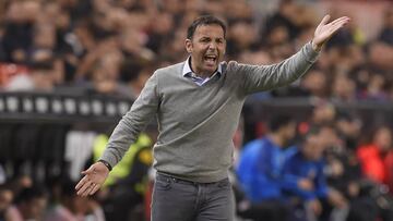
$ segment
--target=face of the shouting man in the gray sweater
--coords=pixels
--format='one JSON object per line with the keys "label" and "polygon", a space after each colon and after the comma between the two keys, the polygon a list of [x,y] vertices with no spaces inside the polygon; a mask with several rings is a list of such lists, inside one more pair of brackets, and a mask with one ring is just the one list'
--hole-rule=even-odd
{"label": "face of the shouting man in the gray sweater", "polygon": [[193,37],[186,39],[192,71],[198,75],[212,75],[224,58],[225,47],[224,29],[219,25],[198,26]]}

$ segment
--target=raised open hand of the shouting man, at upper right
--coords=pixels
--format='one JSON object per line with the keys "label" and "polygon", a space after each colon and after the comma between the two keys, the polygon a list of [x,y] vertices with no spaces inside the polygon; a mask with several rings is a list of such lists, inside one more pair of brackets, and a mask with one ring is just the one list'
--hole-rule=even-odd
{"label": "raised open hand of the shouting man, at upper right", "polygon": [[312,39],[312,48],[315,51],[321,50],[323,44],[325,44],[340,28],[342,28],[350,20],[347,16],[342,16],[331,23],[327,23],[330,19],[331,16],[329,14],[325,15],[314,32],[314,36]]}

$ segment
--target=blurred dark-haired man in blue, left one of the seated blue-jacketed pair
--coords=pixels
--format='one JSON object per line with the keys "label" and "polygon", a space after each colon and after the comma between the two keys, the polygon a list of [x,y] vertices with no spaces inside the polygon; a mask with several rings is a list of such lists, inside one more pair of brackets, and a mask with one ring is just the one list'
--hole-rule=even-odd
{"label": "blurred dark-haired man in blue, left one of the seated blue-jacketed pair", "polygon": [[[288,220],[288,208],[282,194],[283,148],[295,134],[295,121],[277,115],[269,122],[266,136],[246,145],[237,169],[247,198],[240,204],[239,216],[265,221]],[[248,201],[251,204],[245,204]]]}

